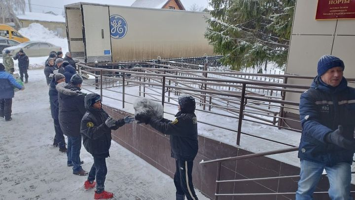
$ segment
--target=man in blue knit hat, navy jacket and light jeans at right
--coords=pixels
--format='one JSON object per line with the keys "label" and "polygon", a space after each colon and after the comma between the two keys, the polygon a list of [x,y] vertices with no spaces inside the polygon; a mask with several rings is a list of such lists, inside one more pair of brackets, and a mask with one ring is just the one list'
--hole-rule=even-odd
{"label": "man in blue knit hat, navy jacket and light jeans at right", "polygon": [[301,94],[301,160],[296,200],[311,200],[325,169],[332,200],[352,200],[351,164],[355,150],[355,89],[343,77],[344,62],[331,55],[318,61],[318,76]]}

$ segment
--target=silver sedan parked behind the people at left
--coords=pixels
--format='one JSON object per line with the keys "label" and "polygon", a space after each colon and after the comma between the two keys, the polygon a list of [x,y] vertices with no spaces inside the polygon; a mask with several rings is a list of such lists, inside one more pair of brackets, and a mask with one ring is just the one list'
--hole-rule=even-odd
{"label": "silver sedan parked behind the people at left", "polygon": [[8,49],[10,50],[12,55],[15,55],[21,48],[24,50],[24,52],[27,54],[28,57],[48,56],[51,51],[55,51],[55,52],[62,51],[62,47],[56,46],[49,42],[26,41],[16,46],[4,48],[2,50],[2,54],[5,53],[6,49]]}

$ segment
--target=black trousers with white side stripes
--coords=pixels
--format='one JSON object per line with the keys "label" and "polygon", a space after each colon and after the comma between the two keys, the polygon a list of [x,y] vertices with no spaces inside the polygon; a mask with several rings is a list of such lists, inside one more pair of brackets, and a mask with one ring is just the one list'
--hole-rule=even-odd
{"label": "black trousers with white side stripes", "polygon": [[186,195],[187,200],[197,200],[192,183],[193,161],[176,159],[174,184],[178,195]]}

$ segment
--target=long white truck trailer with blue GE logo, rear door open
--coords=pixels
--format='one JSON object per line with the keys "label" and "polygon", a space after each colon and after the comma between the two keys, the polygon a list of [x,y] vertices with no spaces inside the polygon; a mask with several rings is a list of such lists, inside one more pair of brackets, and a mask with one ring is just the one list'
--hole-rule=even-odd
{"label": "long white truck trailer with blue GE logo, rear door open", "polygon": [[85,62],[213,55],[206,12],[78,2],[65,5],[69,50]]}

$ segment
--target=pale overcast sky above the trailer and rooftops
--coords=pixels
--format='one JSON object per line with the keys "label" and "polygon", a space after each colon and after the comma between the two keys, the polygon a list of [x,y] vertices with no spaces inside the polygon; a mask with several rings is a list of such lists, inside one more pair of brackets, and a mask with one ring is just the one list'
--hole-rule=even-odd
{"label": "pale overcast sky above the trailer and rooftops", "polygon": [[[25,0],[27,5],[27,11],[29,0]],[[53,11],[57,14],[62,14],[64,10],[64,5],[71,4],[74,2],[95,2],[101,4],[111,4],[111,5],[125,5],[130,6],[135,0],[30,0],[32,5],[32,12],[48,12]],[[191,5],[196,3],[199,7],[207,7],[208,0],[180,0],[186,10],[189,10]]]}

